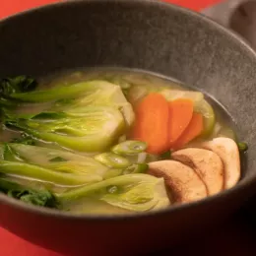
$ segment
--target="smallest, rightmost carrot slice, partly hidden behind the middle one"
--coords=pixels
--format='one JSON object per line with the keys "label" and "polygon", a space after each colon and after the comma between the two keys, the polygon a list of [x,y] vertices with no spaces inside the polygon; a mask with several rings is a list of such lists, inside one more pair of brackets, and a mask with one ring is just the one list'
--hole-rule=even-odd
{"label": "smallest, rightmost carrot slice, partly hidden behind the middle one", "polygon": [[184,131],[184,133],[179,137],[176,143],[173,145],[172,149],[177,150],[184,147],[186,144],[198,137],[204,129],[204,119],[203,115],[200,113],[193,113],[193,117]]}

